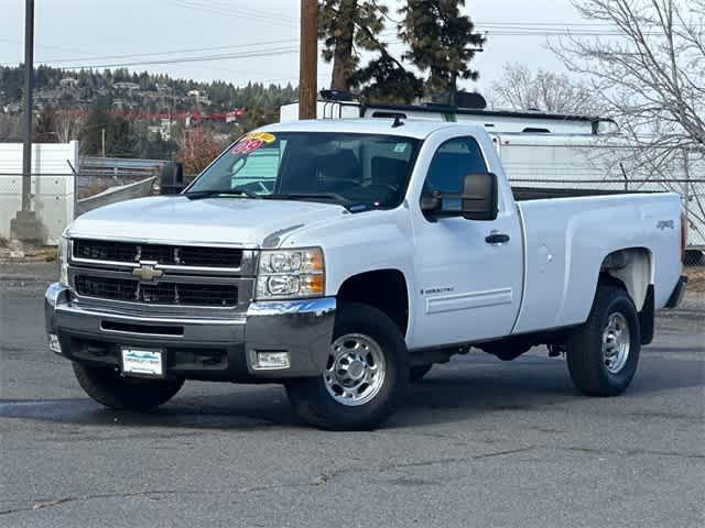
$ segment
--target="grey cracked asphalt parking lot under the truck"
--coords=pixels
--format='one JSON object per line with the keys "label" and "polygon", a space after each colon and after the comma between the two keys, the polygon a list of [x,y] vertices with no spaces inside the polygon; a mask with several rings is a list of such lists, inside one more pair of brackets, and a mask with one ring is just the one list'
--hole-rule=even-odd
{"label": "grey cracked asphalt parking lot under the truck", "polygon": [[437,365],[373,432],[310,429],[283,388],[187,383],[148,415],[48,352],[54,264],[0,267],[0,526],[705,526],[703,294],[658,321],[621,397],[563,359]]}

